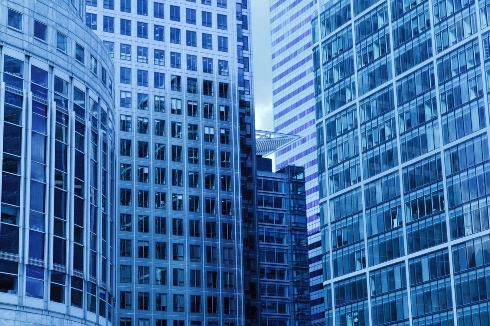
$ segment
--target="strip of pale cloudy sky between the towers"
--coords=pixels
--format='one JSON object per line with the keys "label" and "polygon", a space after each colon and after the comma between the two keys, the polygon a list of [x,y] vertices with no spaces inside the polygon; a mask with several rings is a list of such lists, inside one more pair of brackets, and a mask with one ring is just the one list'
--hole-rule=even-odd
{"label": "strip of pale cloudy sky between the towers", "polygon": [[272,123],[272,64],[270,60],[269,0],[249,0],[252,10],[255,128],[274,131]]}

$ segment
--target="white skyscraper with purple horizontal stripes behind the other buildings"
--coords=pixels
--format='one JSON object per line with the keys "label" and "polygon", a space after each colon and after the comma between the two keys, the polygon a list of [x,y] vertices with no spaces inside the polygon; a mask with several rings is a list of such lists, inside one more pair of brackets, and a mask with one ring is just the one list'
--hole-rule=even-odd
{"label": "white skyscraper with purple horizontal stripes behind the other buildings", "polygon": [[[323,323],[311,19],[317,0],[269,0],[274,131],[300,135],[276,152],[276,168],[305,168],[313,324]],[[319,102],[317,98],[317,105]]]}

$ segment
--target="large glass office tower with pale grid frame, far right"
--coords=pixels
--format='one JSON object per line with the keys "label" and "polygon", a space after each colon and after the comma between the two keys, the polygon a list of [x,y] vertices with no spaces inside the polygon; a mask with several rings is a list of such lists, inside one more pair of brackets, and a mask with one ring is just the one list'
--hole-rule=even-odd
{"label": "large glass office tower with pale grid frame, far right", "polygon": [[489,5],[315,15],[328,325],[489,325]]}

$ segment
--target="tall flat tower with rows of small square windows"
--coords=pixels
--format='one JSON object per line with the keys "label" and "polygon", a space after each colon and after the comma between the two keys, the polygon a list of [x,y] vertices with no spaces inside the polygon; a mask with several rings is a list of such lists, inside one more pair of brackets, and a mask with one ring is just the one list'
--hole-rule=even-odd
{"label": "tall flat tower with rows of small square windows", "polygon": [[116,66],[116,322],[244,325],[243,269],[257,278],[258,264],[242,245],[255,217],[247,1],[86,10]]}

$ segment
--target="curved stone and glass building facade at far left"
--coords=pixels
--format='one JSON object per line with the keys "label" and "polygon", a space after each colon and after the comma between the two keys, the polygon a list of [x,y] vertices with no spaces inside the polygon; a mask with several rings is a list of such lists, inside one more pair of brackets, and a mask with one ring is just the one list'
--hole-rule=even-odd
{"label": "curved stone and glass building facade at far left", "polygon": [[2,325],[112,325],[114,65],[84,16],[0,4]]}

